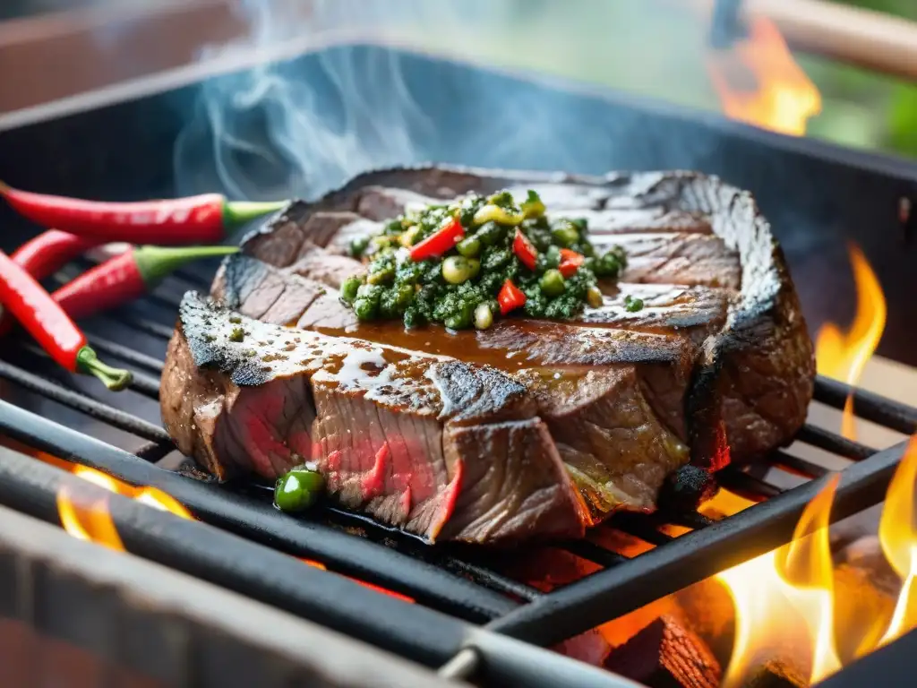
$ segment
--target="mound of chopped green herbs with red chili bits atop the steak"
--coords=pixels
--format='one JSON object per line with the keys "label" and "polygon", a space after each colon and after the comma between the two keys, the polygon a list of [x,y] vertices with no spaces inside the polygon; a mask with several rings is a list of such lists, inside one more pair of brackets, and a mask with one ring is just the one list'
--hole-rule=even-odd
{"label": "mound of chopped green herbs with red chili bits atop the steak", "polygon": [[[502,191],[412,208],[357,245],[366,272],[341,285],[340,299],[359,320],[400,318],[405,327],[439,323],[487,329],[501,317],[497,295],[510,281],[525,294],[525,305],[520,299],[514,314],[576,317],[587,304],[602,304],[597,278],[613,279],[622,272],[624,251],[614,247],[596,256],[586,220],[549,221],[546,212],[535,191],[519,205]],[[424,258],[411,259],[409,249],[446,227],[454,245],[415,250]],[[575,271],[569,270],[570,251],[584,257]]]}

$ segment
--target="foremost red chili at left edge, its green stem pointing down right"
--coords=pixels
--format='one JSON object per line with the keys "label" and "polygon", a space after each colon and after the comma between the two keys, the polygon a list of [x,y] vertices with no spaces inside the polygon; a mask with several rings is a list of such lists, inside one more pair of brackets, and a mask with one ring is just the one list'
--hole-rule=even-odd
{"label": "foremost red chili at left edge, its green stem pointing down right", "polygon": [[61,306],[3,251],[0,251],[0,303],[68,371],[93,374],[111,390],[122,390],[130,383],[130,372],[99,361],[95,351],[86,345],[83,332]]}

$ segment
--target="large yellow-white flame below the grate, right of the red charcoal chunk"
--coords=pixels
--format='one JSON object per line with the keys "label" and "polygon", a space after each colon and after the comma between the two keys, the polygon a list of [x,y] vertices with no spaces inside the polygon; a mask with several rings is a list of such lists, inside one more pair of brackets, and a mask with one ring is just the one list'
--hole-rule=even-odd
{"label": "large yellow-white flame below the grate, right of the red charcoal chunk", "polygon": [[806,506],[790,544],[719,573],[735,603],[735,645],[723,685],[745,685],[762,658],[811,648],[811,682],[841,667],[834,647],[834,574],[828,517],[840,476]]}

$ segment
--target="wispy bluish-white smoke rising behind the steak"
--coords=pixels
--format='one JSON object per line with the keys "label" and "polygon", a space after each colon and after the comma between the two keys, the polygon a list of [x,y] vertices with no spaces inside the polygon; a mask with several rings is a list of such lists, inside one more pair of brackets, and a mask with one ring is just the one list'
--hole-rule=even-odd
{"label": "wispy bluish-white smoke rising behind the steak", "polygon": [[[608,24],[584,37],[567,20],[586,6]],[[623,40],[634,30],[617,26],[623,6],[629,18],[648,14],[641,0],[239,0],[249,35],[202,58],[295,56],[203,84],[175,150],[178,191],[311,199],[359,172],[426,161],[591,173],[639,167],[657,157],[657,134],[666,137],[635,113],[609,121],[595,99],[548,97],[523,80],[399,49],[504,63],[526,50],[547,69],[559,60],[591,64],[589,40]],[[677,73],[676,59],[673,82]],[[637,134],[646,142],[635,143]],[[685,161],[708,152],[681,145]]]}

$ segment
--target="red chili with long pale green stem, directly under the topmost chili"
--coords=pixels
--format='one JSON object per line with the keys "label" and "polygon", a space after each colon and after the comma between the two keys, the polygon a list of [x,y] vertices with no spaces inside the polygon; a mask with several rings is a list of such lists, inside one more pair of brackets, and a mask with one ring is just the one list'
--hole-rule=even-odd
{"label": "red chili with long pale green stem, directly under the topmost chili", "polygon": [[140,246],[74,277],[51,297],[74,319],[92,316],[147,294],[188,262],[237,251],[237,246]]}

